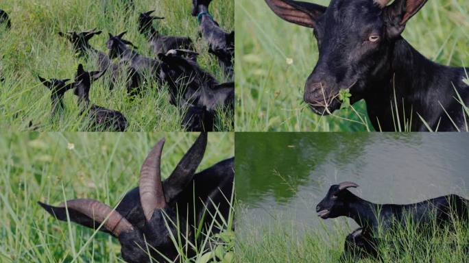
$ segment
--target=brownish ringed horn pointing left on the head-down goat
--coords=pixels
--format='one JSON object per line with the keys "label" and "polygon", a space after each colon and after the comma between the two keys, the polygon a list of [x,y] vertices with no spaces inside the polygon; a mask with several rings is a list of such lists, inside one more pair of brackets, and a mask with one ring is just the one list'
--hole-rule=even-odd
{"label": "brownish ringed horn pointing left on the head-down goat", "polygon": [[[59,207],[65,208],[66,203],[61,203]],[[97,223],[103,223],[103,227],[115,236],[123,232],[133,231],[134,227],[125,217],[116,210],[112,210],[108,205],[93,199],[74,199],[67,201],[67,208],[80,212]]]}

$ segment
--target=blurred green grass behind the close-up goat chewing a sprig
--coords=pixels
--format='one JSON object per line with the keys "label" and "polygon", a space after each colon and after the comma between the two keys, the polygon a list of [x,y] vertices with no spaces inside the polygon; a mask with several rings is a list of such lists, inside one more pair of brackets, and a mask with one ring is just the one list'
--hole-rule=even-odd
{"label": "blurred green grass behind the close-up goat chewing a sprig", "polygon": [[[236,38],[237,131],[373,129],[363,101],[333,116],[317,116],[302,101],[318,55],[311,29],[282,21],[261,0],[237,0],[235,12],[236,27],[243,29]],[[435,0],[411,18],[404,37],[435,62],[469,66],[468,32],[466,0]]]}

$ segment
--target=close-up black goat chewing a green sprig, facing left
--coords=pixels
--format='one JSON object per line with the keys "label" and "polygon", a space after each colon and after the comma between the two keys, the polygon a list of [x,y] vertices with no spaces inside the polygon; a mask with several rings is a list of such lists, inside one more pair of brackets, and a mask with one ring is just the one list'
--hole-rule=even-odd
{"label": "close-up black goat chewing a green sprig, facing left", "polygon": [[[396,0],[391,5],[387,5],[390,0],[333,0],[327,8],[300,1],[265,1],[286,21],[314,28],[319,60],[304,88],[304,101],[313,112],[330,114],[339,109],[339,90],[350,89],[352,103],[365,100],[376,130],[427,131],[419,116],[433,130],[465,127],[461,110],[461,103],[469,104],[465,69],[427,60],[401,36],[426,0]],[[456,91],[462,101],[455,99]]]}

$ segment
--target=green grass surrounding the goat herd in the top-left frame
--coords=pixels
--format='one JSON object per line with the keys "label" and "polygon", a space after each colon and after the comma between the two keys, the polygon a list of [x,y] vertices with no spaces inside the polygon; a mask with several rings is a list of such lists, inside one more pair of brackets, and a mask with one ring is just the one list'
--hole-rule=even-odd
{"label": "green grass surrounding the goat herd in the top-left frame", "polygon": [[[12,29],[0,29],[0,128],[14,131],[38,129],[40,131],[74,132],[88,129],[79,114],[77,97],[67,92],[65,111],[59,119],[51,121],[51,92],[36,75],[47,79],[73,79],[77,65],[83,63],[88,71],[98,70],[96,62],[77,58],[69,42],[58,32],[84,31],[97,27],[103,34],[90,43],[95,49],[107,53],[108,32],[118,34],[125,30],[125,39],[139,47],[139,53],[150,55],[145,36],[137,29],[140,12],[156,10],[156,16],[165,20],[155,22],[163,34],[190,36],[200,52],[202,68],[213,73],[220,82],[225,79],[221,68],[204,40],[198,38],[197,19],[190,16],[191,0],[140,0],[135,10],[126,11],[124,0],[4,0],[0,9],[10,14]],[[211,13],[228,32],[234,28],[234,1],[214,1]],[[150,85],[149,85],[150,86]],[[166,88],[157,92],[147,88],[143,98],[130,101],[123,84],[110,92],[103,81],[91,87],[93,103],[121,111],[129,121],[130,132],[181,131],[182,116],[169,104]],[[29,127],[32,122],[33,127]],[[230,131],[230,120],[217,121],[217,129]]]}

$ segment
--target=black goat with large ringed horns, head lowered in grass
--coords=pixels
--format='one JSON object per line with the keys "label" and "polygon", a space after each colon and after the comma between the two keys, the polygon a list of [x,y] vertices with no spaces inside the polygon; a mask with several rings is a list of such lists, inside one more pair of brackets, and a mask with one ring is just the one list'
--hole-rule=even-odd
{"label": "black goat with large ringed horns, head lowered in grass", "polygon": [[[234,158],[195,173],[204,157],[206,142],[207,134],[202,133],[173,173],[161,181],[160,158],[165,140],[160,140],[143,162],[139,187],[128,192],[115,210],[91,199],[69,200],[58,207],[39,204],[61,221],[67,221],[68,209],[69,218],[75,223],[93,229],[103,223],[101,231],[119,238],[125,262],[167,262],[163,256],[171,262],[181,260],[171,240],[171,235],[176,240],[179,237],[173,223],[179,223],[183,245],[188,238],[188,244],[200,247],[205,236],[196,237],[197,228],[201,226],[209,235],[217,234],[224,229],[211,228],[211,224],[222,222],[221,218],[226,220],[230,214]],[[189,258],[194,254],[193,247],[184,247],[184,251]]]}

